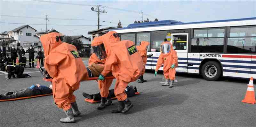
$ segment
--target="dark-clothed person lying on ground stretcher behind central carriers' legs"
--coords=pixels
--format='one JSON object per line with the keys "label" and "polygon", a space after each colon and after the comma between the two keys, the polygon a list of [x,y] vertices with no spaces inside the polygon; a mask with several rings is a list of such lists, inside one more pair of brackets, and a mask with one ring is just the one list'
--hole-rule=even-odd
{"label": "dark-clothed person lying on ground stretcher behind central carriers' legs", "polygon": [[[127,94],[127,97],[132,97],[137,92],[137,88],[133,87],[133,86],[126,86],[126,89],[124,92]],[[114,93],[114,89],[109,90],[109,95],[111,98],[116,97],[115,93]],[[101,100],[100,92],[96,93],[96,94],[88,94],[88,93],[83,92],[83,96],[87,99],[93,99],[93,101]]]}

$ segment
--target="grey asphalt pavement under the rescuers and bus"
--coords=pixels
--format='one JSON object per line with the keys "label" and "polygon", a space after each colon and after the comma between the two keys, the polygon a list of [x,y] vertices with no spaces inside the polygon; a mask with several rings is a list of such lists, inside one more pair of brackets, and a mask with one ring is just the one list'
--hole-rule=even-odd
{"label": "grey asphalt pavement under the rescuers and bus", "polygon": [[[85,64],[88,64],[85,61]],[[32,84],[50,85],[42,80],[36,68],[26,68],[31,78],[5,80],[0,72],[0,93],[30,87]],[[200,75],[177,74],[174,87],[161,86],[163,75],[154,77],[153,71],[146,71],[145,83],[131,82],[140,95],[131,97],[133,108],[126,114],[112,114],[117,108],[116,100],[103,110],[99,105],[84,101],[82,92],[98,93],[96,81],[81,82],[75,91],[81,115],[76,123],[60,123],[65,113],[57,108],[52,96],[26,100],[0,102],[1,127],[255,127],[255,105],[242,103],[249,79],[221,78],[206,81]],[[114,88],[115,79],[111,88]]]}

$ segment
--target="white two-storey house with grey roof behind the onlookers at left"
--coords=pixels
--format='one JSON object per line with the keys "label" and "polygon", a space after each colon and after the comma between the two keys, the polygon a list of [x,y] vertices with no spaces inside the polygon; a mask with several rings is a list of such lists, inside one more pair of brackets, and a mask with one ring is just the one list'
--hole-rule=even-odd
{"label": "white two-storey house with grey roof behind the onlookers at left", "polygon": [[9,37],[12,37],[14,41],[11,41],[10,45],[17,47],[17,44],[20,43],[20,46],[28,47],[29,45],[40,45],[41,42],[38,36],[35,35],[36,29],[32,28],[29,25],[20,26],[16,29],[13,29],[9,32]]}

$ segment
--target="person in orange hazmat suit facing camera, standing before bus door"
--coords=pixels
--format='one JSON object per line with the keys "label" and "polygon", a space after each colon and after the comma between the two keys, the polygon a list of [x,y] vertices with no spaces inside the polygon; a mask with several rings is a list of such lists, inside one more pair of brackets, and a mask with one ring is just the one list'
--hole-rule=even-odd
{"label": "person in orange hazmat suit facing camera, standing before bus door", "polygon": [[165,77],[165,83],[162,86],[173,87],[176,73],[175,68],[178,67],[178,56],[169,41],[165,41],[161,44],[161,54],[157,60],[155,76],[162,64],[164,64]]}

